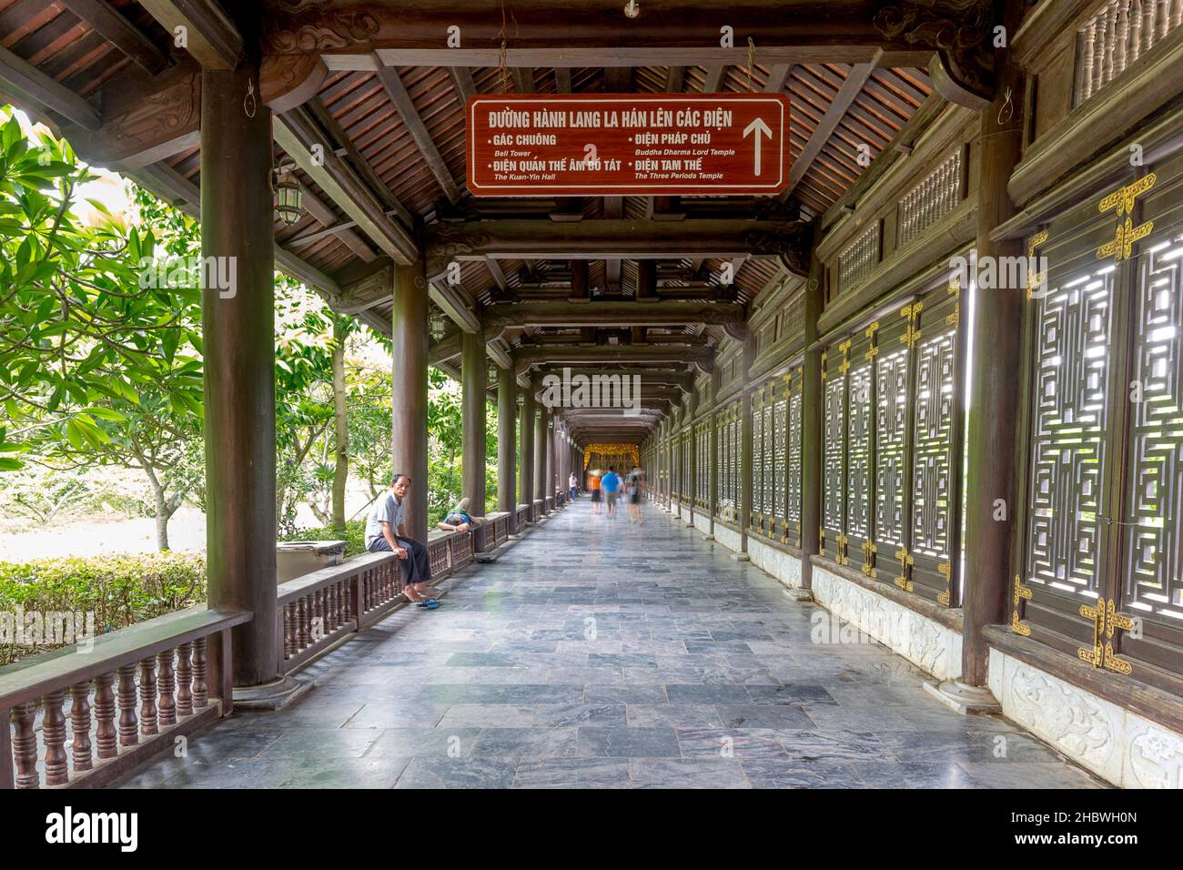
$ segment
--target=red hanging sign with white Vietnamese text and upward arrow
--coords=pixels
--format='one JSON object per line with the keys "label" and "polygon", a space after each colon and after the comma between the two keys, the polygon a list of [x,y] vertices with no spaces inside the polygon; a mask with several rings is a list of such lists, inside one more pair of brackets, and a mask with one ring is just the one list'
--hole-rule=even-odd
{"label": "red hanging sign with white Vietnamese text and upward arrow", "polygon": [[776,194],[789,99],[775,94],[476,96],[476,196]]}

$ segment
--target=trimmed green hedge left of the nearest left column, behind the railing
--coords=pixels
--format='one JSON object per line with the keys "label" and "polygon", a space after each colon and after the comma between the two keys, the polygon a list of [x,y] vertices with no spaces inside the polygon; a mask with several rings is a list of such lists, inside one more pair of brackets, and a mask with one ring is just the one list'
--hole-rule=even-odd
{"label": "trimmed green hedge left of the nearest left column, behind the railing", "polygon": [[[206,600],[205,559],[144,553],[0,562],[0,613],[95,614],[102,634]],[[0,664],[52,649],[0,644]]]}

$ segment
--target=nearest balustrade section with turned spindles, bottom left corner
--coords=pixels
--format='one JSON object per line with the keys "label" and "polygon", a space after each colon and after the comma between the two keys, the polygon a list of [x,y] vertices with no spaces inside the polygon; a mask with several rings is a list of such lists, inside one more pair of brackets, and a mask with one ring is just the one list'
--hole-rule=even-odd
{"label": "nearest balustrade section with turned spindles, bottom left corner", "polygon": [[228,713],[250,620],[200,605],[0,669],[0,788],[99,786]]}

